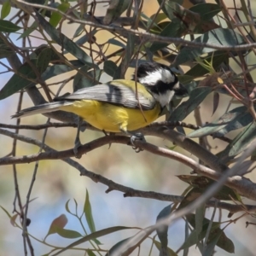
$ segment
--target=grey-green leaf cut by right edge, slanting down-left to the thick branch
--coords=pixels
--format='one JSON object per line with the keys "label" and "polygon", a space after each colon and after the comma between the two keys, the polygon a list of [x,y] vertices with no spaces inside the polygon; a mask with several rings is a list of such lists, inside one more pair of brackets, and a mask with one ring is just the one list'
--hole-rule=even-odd
{"label": "grey-green leaf cut by right edge, slanting down-left to the thick branch", "polygon": [[232,142],[218,154],[218,157],[228,161],[233,159],[237,154],[240,154],[247,146],[252,143],[256,137],[256,123],[253,122],[241,131]]}

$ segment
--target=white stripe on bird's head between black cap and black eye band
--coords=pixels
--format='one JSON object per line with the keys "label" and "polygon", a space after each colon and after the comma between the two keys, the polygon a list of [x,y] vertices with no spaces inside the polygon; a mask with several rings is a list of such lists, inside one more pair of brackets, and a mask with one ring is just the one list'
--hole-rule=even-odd
{"label": "white stripe on bird's head between black cap and black eye band", "polygon": [[139,82],[141,84],[149,84],[149,85],[154,85],[158,81],[163,81],[166,84],[170,84],[174,81],[174,75],[171,73],[171,71],[165,69],[165,68],[160,68],[155,70],[154,72],[147,72],[148,75],[140,78]]}

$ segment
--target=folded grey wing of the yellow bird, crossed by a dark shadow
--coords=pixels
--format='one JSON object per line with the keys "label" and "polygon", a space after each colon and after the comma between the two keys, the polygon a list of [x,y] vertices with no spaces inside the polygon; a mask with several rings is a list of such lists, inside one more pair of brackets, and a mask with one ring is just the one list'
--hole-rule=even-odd
{"label": "folded grey wing of the yellow bird, crossed by a dark shadow", "polygon": [[[143,86],[140,84],[140,86]],[[81,101],[95,100],[108,102],[125,108],[140,108],[143,110],[153,109],[155,106],[154,97],[147,91],[138,90],[139,101],[136,98],[136,91],[124,84],[98,84],[92,87],[77,90],[69,95],[55,98],[55,101]]]}

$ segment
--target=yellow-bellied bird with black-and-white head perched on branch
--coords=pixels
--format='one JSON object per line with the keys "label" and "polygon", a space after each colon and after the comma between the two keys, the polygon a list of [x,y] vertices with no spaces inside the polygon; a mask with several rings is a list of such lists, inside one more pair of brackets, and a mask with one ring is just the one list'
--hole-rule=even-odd
{"label": "yellow-bellied bird with black-and-white head perched on branch", "polygon": [[131,80],[112,80],[57,96],[53,102],[20,110],[12,118],[62,110],[77,114],[99,130],[133,136],[132,131],[158,119],[174,95],[187,96],[188,90],[171,68],[145,61],[137,67]]}

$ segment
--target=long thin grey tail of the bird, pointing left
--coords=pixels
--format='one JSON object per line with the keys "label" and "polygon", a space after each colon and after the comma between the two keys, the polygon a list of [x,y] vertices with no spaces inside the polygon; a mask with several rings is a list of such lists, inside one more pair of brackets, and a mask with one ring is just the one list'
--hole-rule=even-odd
{"label": "long thin grey tail of the bird, pointing left", "polygon": [[31,108],[25,108],[20,110],[20,112],[15,113],[12,115],[12,119],[20,118],[20,117],[26,117],[32,114],[37,114],[37,113],[49,113],[49,112],[54,112],[57,110],[61,110],[62,107],[72,105],[73,102],[49,102],[49,103],[44,103],[38,106],[34,106]]}

